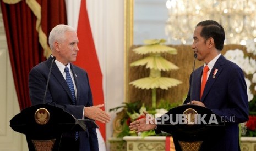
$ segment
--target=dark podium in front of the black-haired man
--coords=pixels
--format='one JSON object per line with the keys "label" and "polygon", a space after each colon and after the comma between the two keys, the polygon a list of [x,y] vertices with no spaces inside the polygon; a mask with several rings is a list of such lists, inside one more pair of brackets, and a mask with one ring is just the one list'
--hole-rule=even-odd
{"label": "dark podium in front of the black-haired man", "polygon": [[157,121],[157,130],[172,135],[176,151],[198,151],[206,138],[225,131],[221,117],[196,105],[172,108]]}

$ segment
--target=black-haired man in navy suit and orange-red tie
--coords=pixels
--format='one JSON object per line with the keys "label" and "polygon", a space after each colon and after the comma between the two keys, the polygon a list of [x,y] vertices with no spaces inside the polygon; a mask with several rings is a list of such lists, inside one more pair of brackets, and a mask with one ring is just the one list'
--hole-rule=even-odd
{"label": "black-haired man in navy suit and orange-red tie", "polygon": [[[240,150],[238,124],[247,121],[249,114],[243,71],[221,55],[225,32],[216,21],[199,22],[195,27],[193,38],[194,53],[197,53],[197,59],[204,61],[205,64],[194,71],[193,83],[190,76],[190,88],[184,104],[190,103],[191,99],[192,104],[209,108],[226,121],[225,132],[209,136],[200,150]],[[208,68],[205,76],[204,68]],[[202,85],[204,81],[206,81],[205,86]],[[145,119],[134,121],[130,125],[131,130],[137,132],[155,127],[155,124],[146,125]]]}

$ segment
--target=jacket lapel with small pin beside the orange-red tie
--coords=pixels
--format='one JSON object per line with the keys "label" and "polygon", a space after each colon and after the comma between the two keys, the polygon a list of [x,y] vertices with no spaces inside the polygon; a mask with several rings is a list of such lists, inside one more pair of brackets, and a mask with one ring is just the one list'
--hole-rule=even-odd
{"label": "jacket lapel with small pin beside the orange-red tie", "polygon": [[[219,75],[221,74],[222,71],[222,65],[224,65],[225,63],[225,57],[224,56],[220,56],[219,59],[216,61],[213,69],[211,69],[211,73],[207,79],[205,88],[204,88],[204,92],[203,92],[203,96],[201,98],[201,101],[204,102],[205,97],[207,96],[207,94],[209,93],[211,86],[213,86],[213,84],[215,83],[215,81],[217,80],[217,78],[219,77]],[[215,69],[217,69],[217,73],[214,75]]]}

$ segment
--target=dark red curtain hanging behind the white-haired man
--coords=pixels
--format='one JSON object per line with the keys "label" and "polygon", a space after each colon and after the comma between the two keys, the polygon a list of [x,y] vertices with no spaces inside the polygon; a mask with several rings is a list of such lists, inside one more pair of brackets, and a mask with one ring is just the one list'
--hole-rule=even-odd
{"label": "dark red curtain hanging behind the white-haired man", "polygon": [[[64,0],[41,0],[41,28],[48,36],[53,26],[67,24]],[[35,1],[36,2],[36,1]],[[55,4],[58,4],[56,7]],[[31,106],[28,77],[32,67],[45,60],[36,29],[38,19],[26,1],[6,4],[1,0],[10,63],[20,109]],[[47,39],[46,39],[47,40]],[[48,56],[47,56],[48,57]]]}

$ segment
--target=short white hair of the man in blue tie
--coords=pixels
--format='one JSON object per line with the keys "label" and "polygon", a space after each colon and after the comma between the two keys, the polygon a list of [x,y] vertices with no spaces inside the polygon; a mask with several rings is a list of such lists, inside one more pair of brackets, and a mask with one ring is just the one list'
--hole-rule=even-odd
{"label": "short white hair of the man in blue tie", "polygon": [[50,45],[51,50],[53,50],[53,43],[54,42],[62,42],[65,38],[65,32],[72,31],[75,32],[75,29],[71,26],[59,24],[52,28],[52,31],[49,34],[48,43]]}

